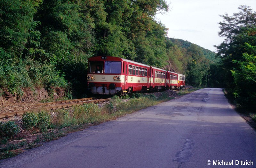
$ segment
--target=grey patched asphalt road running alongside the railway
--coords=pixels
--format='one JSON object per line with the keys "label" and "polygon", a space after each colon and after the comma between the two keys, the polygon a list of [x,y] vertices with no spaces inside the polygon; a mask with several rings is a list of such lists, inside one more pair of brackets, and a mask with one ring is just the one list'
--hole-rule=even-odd
{"label": "grey patched asphalt road running alongside the railway", "polygon": [[220,88],[197,90],[0,161],[5,168],[255,168],[255,164],[256,132]]}

